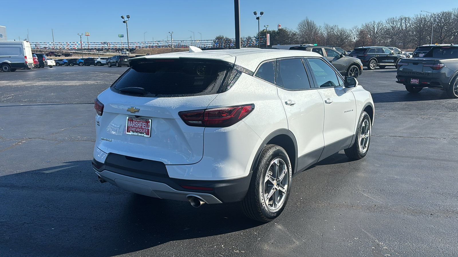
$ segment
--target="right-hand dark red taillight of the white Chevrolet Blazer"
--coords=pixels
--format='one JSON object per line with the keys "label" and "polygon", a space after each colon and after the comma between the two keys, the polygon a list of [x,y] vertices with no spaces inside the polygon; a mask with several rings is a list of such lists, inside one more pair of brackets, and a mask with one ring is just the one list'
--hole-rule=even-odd
{"label": "right-hand dark red taillight of the white Chevrolet Blazer", "polygon": [[178,112],[189,126],[223,128],[234,125],[255,108],[254,104]]}

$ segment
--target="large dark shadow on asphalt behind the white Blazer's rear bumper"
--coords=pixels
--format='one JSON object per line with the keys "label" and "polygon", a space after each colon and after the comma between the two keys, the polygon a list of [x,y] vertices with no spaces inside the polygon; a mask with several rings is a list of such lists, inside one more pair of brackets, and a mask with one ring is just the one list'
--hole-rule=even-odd
{"label": "large dark shadow on asphalt behind the white Blazer's rear bumper", "polygon": [[0,176],[3,256],[115,256],[262,225],[240,203],[194,208],[100,184],[89,160]]}

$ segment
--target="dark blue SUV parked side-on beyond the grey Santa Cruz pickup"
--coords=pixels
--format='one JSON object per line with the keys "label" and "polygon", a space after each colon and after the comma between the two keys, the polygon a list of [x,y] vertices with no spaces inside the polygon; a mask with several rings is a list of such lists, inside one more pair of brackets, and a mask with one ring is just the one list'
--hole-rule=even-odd
{"label": "dark blue SUV parked side-on beyond the grey Santa Cruz pickup", "polygon": [[382,46],[354,48],[350,56],[360,59],[369,70],[374,70],[377,66],[380,69],[385,69],[386,66],[398,68],[398,61],[405,58],[405,55],[394,54],[393,51]]}

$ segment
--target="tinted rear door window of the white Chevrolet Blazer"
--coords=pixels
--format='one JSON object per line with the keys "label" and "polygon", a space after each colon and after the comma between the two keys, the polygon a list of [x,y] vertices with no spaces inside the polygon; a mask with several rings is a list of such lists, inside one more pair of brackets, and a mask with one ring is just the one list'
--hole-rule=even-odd
{"label": "tinted rear door window of the white Chevrolet Blazer", "polygon": [[292,90],[310,88],[302,59],[280,60],[278,71],[276,85]]}

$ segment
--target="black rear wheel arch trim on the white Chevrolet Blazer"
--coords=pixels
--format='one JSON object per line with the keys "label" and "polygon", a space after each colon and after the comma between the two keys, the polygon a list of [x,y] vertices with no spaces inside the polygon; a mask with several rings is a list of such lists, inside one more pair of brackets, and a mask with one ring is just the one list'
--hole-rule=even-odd
{"label": "black rear wheel arch trim on the white Chevrolet Blazer", "polygon": [[278,145],[283,147],[289,157],[289,161],[291,161],[291,169],[292,173],[294,174],[297,169],[297,142],[294,134],[289,131],[288,129],[278,129],[269,134],[266,139],[262,142],[261,146],[256,152],[255,159],[251,165],[251,171],[253,171],[258,162],[259,157],[261,155],[262,150],[266,147],[266,145]]}

